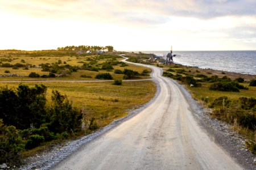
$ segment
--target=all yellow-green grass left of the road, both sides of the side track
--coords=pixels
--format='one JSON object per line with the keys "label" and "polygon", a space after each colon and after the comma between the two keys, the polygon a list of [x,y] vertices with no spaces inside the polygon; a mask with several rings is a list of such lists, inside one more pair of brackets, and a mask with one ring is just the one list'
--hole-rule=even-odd
{"label": "all yellow-green grass left of the road, both sides of the side track", "polygon": [[[24,52],[25,53],[25,52]],[[33,53],[33,52],[29,52]],[[28,55],[28,54],[26,54]],[[16,74],[22,77],[0,77],[0,86],[17,87],[18,82],[15,83],[4,83],[1,80],[97,80],[94,77],[98,73],[110,73],[113,79],[123,79],[123,74],[114,74],[115,69],[124,70],[130,69],[142,73],[143,70],[148,70],[146,67],[136,66],[129,64],[125,67],[120,65],[113,65],[113,70],[77,70],[72,72],[70,75],[56,77],[56,78],[29,78],[28,74],[31,72],[38,73],[39,75],[48,74],[49,72],[42,71],[39,65],[48,64],[64,66],[66,64],[71,66],[81,67],[84,63],[90,63],[90,61],[96,61],[94,63],[97,67],[101,67],[102,63],[108,61],[120,61],[122,58],[113,57],[100,58],[100,55],[88,55],[88,56],[44,56],[44,57],[30,57],[24,55],[16,55],[15,53],[0,53],[0,60],[2,63],[22,63],[23,65],[30,64],[28,70],[24,70],[23,67],[19,69],[12,69],[11,67],[0,67],[0,75]],[[5,70],[9,70],[10,73],[5,73]],[[82,78],[81,75],[91,76],[91,78]],[[140,79],[150,78],[149,76],[139,76]],[[108,125],[113,120],[126,116],[130,109],[137,108],[139,105],[147,103],[155,95],[155,84],[151,81],[143,82],[123,82],[121,86],[115,86],[113,82],[89,82],[89,83],[78,83],[78,82],[43,82],[42,84],[47,86],[47,98],[51,99],[51,91],[57,90],[61,94],[67,95],[68,99],[72,101],[73,106],[81,108],[84,114],[84,120],[90,118],[96,118],[96,122],[99,128]],[[35,82],[24,83],[28,86],[34,86]],[[37,83],[41,84],[41,83]],[[50,100],[48,100],[50,101]]]}

